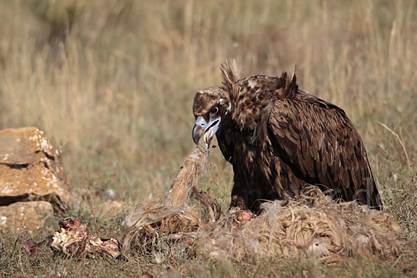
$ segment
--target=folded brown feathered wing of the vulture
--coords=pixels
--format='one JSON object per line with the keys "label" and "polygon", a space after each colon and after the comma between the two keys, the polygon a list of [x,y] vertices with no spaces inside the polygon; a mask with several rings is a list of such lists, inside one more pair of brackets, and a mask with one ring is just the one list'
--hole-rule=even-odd
{"label": "folded brown feathered wing of the vulture", "polygon": [[329,186],[342,199],[377,206],[365,147],[340,108],[304,92],[292,99],[277,99],[267,136],[270,150],[299,179]]}

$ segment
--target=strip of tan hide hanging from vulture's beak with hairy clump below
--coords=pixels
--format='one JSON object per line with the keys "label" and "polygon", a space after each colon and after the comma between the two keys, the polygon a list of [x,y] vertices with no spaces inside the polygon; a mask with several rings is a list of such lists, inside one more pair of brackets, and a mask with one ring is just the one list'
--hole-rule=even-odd
{"label": "strip of tan hide hanging from vulture's beak with hairy clump below", "polygon": [[[183,162],[177,179],[171,185],[165,205],[149,202],[133,210],[122,223],[127,229],[123,240],[124,251],[131,248],[147,248],[152,245],[156,231],[170,238],[192,236],[200,227],[205,227],[186,205],[190,190],[197,186],[199,174],[206,171],[208,149],[198,146]],[[173,236],[174,235],[174,236]]]}

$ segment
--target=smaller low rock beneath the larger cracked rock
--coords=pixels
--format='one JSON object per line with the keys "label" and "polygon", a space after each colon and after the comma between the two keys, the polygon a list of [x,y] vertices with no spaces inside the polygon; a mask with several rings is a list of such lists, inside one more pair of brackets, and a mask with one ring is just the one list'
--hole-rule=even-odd
{"label": "smaller low rock beneath the larger cracked rock", "polygon": [[35,231],[45,225],[45,221],[54,215],[51,203],[16,202],[8,206],[0,206],[0,230],[8,230],[13,234],[19,231]]}

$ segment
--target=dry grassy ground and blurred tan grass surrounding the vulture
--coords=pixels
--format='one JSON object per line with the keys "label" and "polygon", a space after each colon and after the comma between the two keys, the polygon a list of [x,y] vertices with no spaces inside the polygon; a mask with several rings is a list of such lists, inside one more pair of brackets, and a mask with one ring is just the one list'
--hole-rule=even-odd
{"label": "dry grassy ground and blurred tan grass surrounding the vulture", "polygon": [[[121,236],[126,211],[165,195],[193,149],[193,96],[219,85],[220,63],[234,57],[245,74],[271,75],[295,64],[300,88],[341,106],[357,126],[386,210],[416,240],[416,4],[1,0],[0,129],[38,126],[63,149],[73,194],[81,197],[56,219],[77,217],[101,236]],[[218,149],[211,162],[201,186],[227,206],[231,167]],[[110,199],[125,211],[108,219],[97,207]],[[159,264],[150,255],[28,259],[14,240],[0,235],[0,276],[137,276],[170,265],[195,277],[389,277],[417,268],[414,258],[220,264],[169,250]]]}

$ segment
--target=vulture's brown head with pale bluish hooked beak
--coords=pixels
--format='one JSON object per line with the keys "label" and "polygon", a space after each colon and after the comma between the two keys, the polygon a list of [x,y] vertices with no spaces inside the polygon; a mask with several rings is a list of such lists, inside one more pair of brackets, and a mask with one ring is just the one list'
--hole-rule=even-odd
{"label": "vulture's brown head with pale bluish hooked beak", "polygon": [[229,93],[222,88],[206,88],[199,90],[194,97],[193,113],[195,126],[193,140],[198,145],[204,134],[204,142],[210,145],[211,139],[231,117]]}

